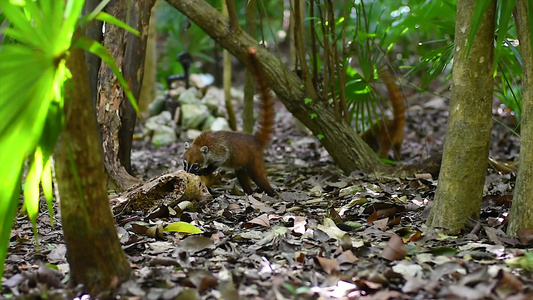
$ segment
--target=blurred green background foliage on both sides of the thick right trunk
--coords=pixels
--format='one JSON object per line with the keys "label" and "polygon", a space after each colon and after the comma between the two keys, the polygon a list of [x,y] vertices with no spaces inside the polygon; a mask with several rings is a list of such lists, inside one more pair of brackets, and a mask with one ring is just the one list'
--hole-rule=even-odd
{"label": "blurred green background foliage on both sides of the thick right trunk", "polygon": [[[497,2],[495,58],[498,69],[495,73],[495,94],[519,117],[522,63],[519,51],[513,46],[516,29],[511,13],[515,2]],[[487,3],[476,2],[476,11],[472,18],[472,37]],[[364,131],[371,126],[375,118],[380,117],[381,110],[378,107],[388,106],[386,99],[376,89],[380,82],[377,74],[382,68],[389,68],[393,74],[398,74],[395,70],[399,68],[407,69],[406,78],[421,74],[420,83],[410,84],[420,92],[425,91],[437,78],[450,79],[456,0],[355,1],[348,4],[348,17],[344,14],[344,5],[343,2],[336,2],[335,21],[340,26],[336,27],[334,34],[327,35],[327,38],[330,43],[337,45],[337,51],[343,54],[345,84],[339,85],[339,76],[336,74],[336,95],[340,95],[341,88],[345,90],[350,117],[358,129]],[[316,7],[324,10],[324,5]],[[319,38],[319,44],[324,46],[321,24],[327,24],[327,21],[322,19],[318,13],[313,18],[318,23],[316,36]]]}

